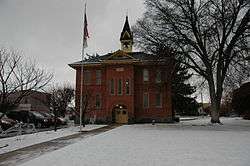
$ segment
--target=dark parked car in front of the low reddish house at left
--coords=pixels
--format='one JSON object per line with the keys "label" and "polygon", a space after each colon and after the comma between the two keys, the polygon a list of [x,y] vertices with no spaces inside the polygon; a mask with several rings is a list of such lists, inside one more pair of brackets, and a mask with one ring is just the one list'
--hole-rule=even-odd
{"label": "dark parked car in front of the low reddish house at left", "polygon": [[11,111],[7,116],[19,122],[33,123],[38,128],[50,126],[48,118],[36,111]]}

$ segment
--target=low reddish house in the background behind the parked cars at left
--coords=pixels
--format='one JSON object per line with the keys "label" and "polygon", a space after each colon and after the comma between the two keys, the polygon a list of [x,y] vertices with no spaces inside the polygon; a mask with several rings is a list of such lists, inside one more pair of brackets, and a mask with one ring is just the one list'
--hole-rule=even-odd
{"label": "low reddish house in the background behind the parked cars at left", "polygon": [[[15,100],[22,92],[15,92],[10,95],[10,100]],[[29,91],[29,95],[23,97],[19,102],[16,111],[44,111],[49,112],[50,94],[38,91]]]}

